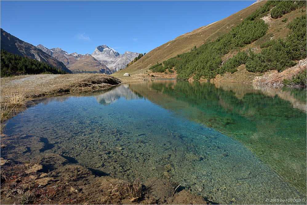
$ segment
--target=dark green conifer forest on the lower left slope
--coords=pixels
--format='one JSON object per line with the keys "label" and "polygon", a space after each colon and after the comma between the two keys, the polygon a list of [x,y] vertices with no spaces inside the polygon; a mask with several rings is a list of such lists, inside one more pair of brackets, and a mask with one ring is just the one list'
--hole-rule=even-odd
{"label": "dark green conifer forest on the lower left slope", "polygon": [[1,49],[1,77],[10,77],[13,72],[23,74],[66,74],[65,71],[51,67],[34,59],[21,57]]}

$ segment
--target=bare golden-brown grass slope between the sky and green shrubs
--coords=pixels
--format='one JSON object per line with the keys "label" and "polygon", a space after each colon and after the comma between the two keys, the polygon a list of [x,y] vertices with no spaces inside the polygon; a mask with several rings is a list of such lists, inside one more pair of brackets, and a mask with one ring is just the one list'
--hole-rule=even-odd
{"label": "bare golden-brown grass slope between the sky and green shrubs", "polygon": [[174,40],[153,49],[128,68],[113,73],[112,75],[123,75],[124,73],[140,75],[140,73],[144,72],[147,75],[146,70],[148,70],[150,66],[155,65],[157,61],[162,63],[171,57],[177,56],[177,54],[189,52],[194,46],[199,47],[206,42],[215,40],[217,37],[228,33],[244,18],[263,6],[265,2],[266,1],[258,2],[221,21],[202,26],[189,33],[178,36]]}

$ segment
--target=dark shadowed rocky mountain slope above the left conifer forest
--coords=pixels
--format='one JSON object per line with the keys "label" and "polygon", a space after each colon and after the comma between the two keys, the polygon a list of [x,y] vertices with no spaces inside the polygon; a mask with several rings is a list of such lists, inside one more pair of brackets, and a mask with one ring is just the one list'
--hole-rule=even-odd
{"label": "dark shadowed rocky mountain slope above the left conifer forest", "polygon": [[3,29],[1,29],[0,34],[0,45],[1,49],[6,50],[10,53],[35,59],[42,63],[47,63],[50,66],[59,68],[67,73],[71,73],[71,71],[67,69],[64,63],[62,63],[61,61],[58,61],[56,58],[48,55],[41,49],[36,48],[34,45],[22,41],[19,38],[7,33]]}

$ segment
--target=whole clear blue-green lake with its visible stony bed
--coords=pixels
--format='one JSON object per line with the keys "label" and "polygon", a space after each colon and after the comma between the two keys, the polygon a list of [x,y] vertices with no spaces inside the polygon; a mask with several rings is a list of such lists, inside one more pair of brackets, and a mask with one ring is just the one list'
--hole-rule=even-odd
{"label": "whole clear blue-green lake with its visible stony bed", "polygon": [[162,177],[223,204],[306,203],[304,89],[156,80],[35,104],[6,124],[14,146],[1,157],[59,154],[98,176]]}

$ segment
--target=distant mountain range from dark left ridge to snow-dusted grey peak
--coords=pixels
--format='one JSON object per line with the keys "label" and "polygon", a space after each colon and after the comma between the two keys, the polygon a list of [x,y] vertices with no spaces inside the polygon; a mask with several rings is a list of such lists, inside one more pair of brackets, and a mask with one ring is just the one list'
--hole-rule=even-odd
{"label": "distant mountain range from dark left ridge to snow-dusted grey peak", "polygon": [[19,56],[28,57],[47,63],[67,73],[94,72],[111,74],[126,67],[140,53],[126,51],[119,54],[107,45],[96,47],[92,54],[67,53],[61,48],[48,49],[39,44],[30,43],[7,33],[1,29],[1,49]]}

